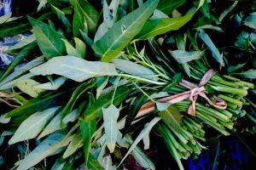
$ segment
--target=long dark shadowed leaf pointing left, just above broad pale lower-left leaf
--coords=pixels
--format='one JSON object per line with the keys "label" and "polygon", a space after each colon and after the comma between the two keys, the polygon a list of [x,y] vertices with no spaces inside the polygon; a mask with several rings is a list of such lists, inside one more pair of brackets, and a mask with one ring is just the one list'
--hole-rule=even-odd
{"label": "long dark shadowed leaf pointing left, just above broad pale lower-left leaf", "polygon": [[[61,105],[61,103],[67,100],[67,96],[68,94],[70,94],[71,91],[72,89],[68,89],[66,91],[49,93],[44,96],[39,96],[38,98],[31,99],[26,104],[21,105],[15,110],[9,111],[6,117],[32,115],[34,112],[44,111],[52,105]],[[63,99],[63,96],[66,97]]]}

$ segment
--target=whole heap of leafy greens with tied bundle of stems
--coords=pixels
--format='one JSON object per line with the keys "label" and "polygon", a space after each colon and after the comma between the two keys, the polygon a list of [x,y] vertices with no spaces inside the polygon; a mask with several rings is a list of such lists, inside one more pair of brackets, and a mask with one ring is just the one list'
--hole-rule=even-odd
{"label": "whole heap of leafy greens with tied bundle of stems", "polygon": [[0,37],[26,34],[0,70],[1,155],[19,153],[1,166],[116,169],[131,155],[155,169],[143,150],[156,133],[183,169],[207,149],[209,127],[254,135],[253,1],[40,0],[35,10],[0,17]]}

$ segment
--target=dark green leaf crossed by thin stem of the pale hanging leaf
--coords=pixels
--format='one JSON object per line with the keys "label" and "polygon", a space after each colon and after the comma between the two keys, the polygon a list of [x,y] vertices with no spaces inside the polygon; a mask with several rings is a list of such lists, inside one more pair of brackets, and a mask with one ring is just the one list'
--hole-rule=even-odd
{"label": "dark green leaf crossed by thin stem of the pale hanging leaf", "polygon": [[96,102],[91,105],[86,111],[84,111],[84,121],[90,122],[94,119],[96,119],[99,116],[102,116],[102,107],[106,108],[109,105],[111,105],[111,99],[113,97],[113,105],[119,105],[125,97],[130,94],[131,89],[120,86],[116,89],[115,95],[113,97],[113,91],[103,95],[99,99],[96,100]]}

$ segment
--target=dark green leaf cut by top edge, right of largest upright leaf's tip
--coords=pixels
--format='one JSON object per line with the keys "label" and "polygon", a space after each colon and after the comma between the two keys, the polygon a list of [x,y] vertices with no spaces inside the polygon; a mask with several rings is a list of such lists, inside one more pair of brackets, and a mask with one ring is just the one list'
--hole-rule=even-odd
{"label": "dark green leaf cut by top edge, right of largest upright leaf's tip", "polygon": [[172,14],[172,11],[185,3],[186,0],[162,0],[157,8],[165,14]]}

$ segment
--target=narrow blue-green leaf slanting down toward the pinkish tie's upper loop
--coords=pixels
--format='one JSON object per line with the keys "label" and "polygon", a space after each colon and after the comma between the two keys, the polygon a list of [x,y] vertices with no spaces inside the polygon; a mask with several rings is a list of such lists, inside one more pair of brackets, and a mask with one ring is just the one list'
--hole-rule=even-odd
{"label": "narrow blue-green leaf slanting down toward the pinkish tie's upper loop", "polygon": [[212,51],[212,57],[216,59],[220,65],[224,65],[224,60],[221,54],[219,54],[218,48],[215,47],[211,38],[201,28],[199,29],[199,37],[201,37],[201,40],[205,42],[207,47]]}

